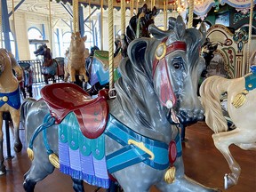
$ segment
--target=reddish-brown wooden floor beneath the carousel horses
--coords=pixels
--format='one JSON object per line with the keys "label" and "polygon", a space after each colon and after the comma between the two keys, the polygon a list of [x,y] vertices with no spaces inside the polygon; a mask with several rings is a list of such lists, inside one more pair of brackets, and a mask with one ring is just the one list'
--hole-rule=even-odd
{"label": "reddish-brown wooden floor beneath the carousel horses", "polygon": [[[10,126],[12,141],[12,124]],[[0,192],[21,192],[23,175],[28,171],[30,161],[26,154],[25,130],[20,127],[20,136],[23,149],[16,154],[11,148],[13,158],[6,159],[7,172],[0,176]],[[238,184],[225,190],[223,188],[224,174],[229,172],[228,164],[212,142],[212,131],[203,122],[187,127],[186,141],[183,142],[183,159],[186,174],[198,182],[227,192],[256,192],[256,151],[244,151],[236,146],[231,146],[231,153],[242,168]],[[12,147],[12,143],[11,143]],[[4,148],[6,148],[4,137]],[[6,156],[6,150],[4,151]],[[69,192],[72,183],[67,175],[55,170],[52,175],[36,184],[36,192]],[[94,187],[84,184],[85,191],[93,192]],[[100,189],[100,192],[104,191]],[[152,188],[151,192],[157,192]],[[135,191],[134,191],[135,192]],[[138,191],[140,192],[140,191]],[[181,191],[182,192],[182,191]]]}

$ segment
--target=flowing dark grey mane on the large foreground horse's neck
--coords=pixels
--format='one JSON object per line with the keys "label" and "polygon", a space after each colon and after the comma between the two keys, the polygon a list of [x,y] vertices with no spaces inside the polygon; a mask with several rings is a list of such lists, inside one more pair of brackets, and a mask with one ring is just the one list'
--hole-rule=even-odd
{"label": "flowing dark grey mane on the large foreground horse's neck", "polygon": [[[116,81],[116,100],[121,103],[121,108],[130,116],[136,124],[152,129],[152,119],[148,110],[148,98],[155,98],[156,92],[149,76],[152,69],[146,60],[145,52],[150,50],[152,40],[143,38],[140,41],[134,40],[129,46],[129,58],[125,58],[119,65],[121,78]],[[136,58],[136,59],[135,59]]]}

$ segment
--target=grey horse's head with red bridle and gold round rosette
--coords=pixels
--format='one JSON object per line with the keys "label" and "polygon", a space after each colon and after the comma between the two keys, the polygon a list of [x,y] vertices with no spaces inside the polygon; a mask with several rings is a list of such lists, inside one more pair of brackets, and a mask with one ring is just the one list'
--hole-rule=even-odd
{"label": "grey horse's head with red bridle and gold round rosette", "polygon": [[150,26],[152,35],[160,40],[153,56],[154,86],[161,104],[170,109],[172,122],[189,124],[204,117],[196,91],[205,67],[200,48],[206,31],[204,25],[200,30],[186,29],[180,16],[171,20],[166,32]]}

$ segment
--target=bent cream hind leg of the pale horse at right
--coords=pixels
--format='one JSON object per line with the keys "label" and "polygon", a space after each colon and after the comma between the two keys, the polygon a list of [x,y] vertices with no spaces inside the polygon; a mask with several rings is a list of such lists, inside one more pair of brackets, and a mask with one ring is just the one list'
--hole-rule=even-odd
{"label": "bent cream hind leg of the pale horse at right", "polygon": [[224,177],[225,189],[237,184],[241,172],[239,164],[236,163],[236,160],[231,155],[228,147],[233,143],[250,142],[250,134],[252,133],[241,132],[241,129],[236,128],[236,130],[231,132],[220,132],[212,135],[215,147],[218,148],[220,153],[225,157],[228,162],[229,169],[231,170],[231,173],[226,174]]}

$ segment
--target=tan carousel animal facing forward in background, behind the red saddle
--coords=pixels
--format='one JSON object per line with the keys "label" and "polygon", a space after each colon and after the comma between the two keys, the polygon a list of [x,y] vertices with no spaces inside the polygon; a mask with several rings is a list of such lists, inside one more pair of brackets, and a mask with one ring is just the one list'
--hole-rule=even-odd
{"label": "tan carousel animal facing forward in background, behind the red saddle", "polygon": [[84,42],[87,36],[81,37],[79,32],[72,33],[71,41],[68,49],[68,64],[65,66],[64,81],[68,81],[70,76],[70,82],[76,82],[76,75],[82,76],[81,80],[88,82],[88,76],[86,74],[85,60],[89,56],[88,49],[85,48]]}

